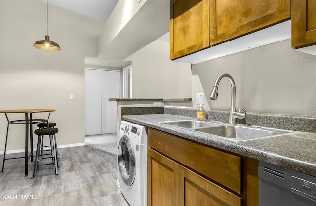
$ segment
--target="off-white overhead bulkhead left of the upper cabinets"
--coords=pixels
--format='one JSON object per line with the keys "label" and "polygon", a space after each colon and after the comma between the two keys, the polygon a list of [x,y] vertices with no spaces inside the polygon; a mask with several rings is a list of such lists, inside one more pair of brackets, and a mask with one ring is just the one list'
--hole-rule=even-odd
{"label": "off-white overhead bulkhead left of the upper cabinets", "polygon": [[98,36],[98,57],[125,59],[167,33],[169,5],[170,0],[119,0]]}

